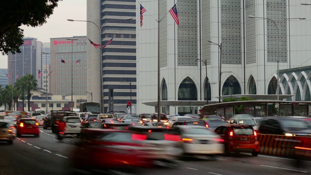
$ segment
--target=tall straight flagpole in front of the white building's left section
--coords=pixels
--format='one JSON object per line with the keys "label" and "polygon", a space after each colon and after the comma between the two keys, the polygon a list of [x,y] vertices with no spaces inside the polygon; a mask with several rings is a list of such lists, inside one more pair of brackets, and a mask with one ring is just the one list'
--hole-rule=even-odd
{"label": "tall straight flagpole in front of the white building's left section", "polygon": [[160,89],[160,0],[157,0],[157,122],[161,122]]}

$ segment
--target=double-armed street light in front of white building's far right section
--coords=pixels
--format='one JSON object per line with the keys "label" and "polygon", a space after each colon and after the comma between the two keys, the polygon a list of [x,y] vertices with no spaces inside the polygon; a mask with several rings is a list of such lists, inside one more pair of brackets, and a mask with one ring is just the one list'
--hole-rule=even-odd
{"label": "double-armed street light in front of white building's far right section", "polygon": [[[306,5],[306,4],[303,4],[303,5]],[[276,85],[277,85],[277,88],[276,88],[276,95],[277,95],[277,101],[279,101],[279,87],[280,87],[280,84],[279,84],[279,33],[278,33],[278,26],[276,24],[276,21],[275,20],[272,20],[270,18],[263,18],[263,17],[255,17],[255,16],[248,16],[248,18],[260,18],[260,19],[267,19],[267,20],[270,20],[273,22],[273,24],[276,26],[276,32],[277,32],[277,71],[276,71],[276,76],[277,76],[277,80],[276,80]],[[285,20],[290,20],[290,19],[306,19],[306,18],[286,18],[286,19],[283,19],[281,22],[285,21]]]}

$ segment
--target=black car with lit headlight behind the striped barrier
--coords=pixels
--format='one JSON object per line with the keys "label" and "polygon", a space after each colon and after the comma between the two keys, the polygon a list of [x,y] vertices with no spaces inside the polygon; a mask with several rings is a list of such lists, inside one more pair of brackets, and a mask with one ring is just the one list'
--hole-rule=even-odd
{"label": "black car with lit headlight behind the striped barrier", "polygon": [[311,136],[308,123],[291,117],[265,117],[260,121],[258,130],[260,134]]}

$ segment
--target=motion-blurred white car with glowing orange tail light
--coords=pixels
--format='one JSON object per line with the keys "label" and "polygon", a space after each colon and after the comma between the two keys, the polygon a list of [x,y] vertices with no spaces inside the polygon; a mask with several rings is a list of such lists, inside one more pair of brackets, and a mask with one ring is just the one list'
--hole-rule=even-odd
{"label": "motion-blurred white car with glowing orange tail light", "polygon": [[225,151],[224,140],[204,126],[180,125],[180,137],[184,155],[206,155],[214,157]]}

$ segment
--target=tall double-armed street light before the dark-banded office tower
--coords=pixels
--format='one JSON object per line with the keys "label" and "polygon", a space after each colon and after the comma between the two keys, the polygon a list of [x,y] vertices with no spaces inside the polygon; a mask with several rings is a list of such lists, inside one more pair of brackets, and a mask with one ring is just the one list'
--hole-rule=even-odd
{"label": "tall double-armed street light before the dark-banded office tower", "polygon": [[[74,19],[67,19],[68,21],[80,21],[80,22],[90,22],[90,23],[93,23],[98,31],[99,31],[99,40],[100,40],[100,45],[102,45],[102,29],[104,27],[104,25],[106,25],[108,22],[114,22],[114,21],[121,21],[121,20],[130,20],[130,19],[133,19],[133,18],[126,18],[126,19],[114,19],[114,20],[109,20],[107,22],[105,22],[101,28],[99,28],[99,26],[94,23],[93,21],[89,21],[89,20],[74,20]],[[102,49],[99,50],[100,52],[100,71],[101,71],[101,110],[102,110],[102,113],[104,113],[104,90],[103,90],[103,61],[102,61]],[[93,101],[93,100],[92,100]]]}

